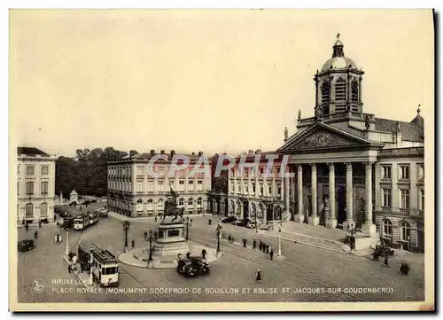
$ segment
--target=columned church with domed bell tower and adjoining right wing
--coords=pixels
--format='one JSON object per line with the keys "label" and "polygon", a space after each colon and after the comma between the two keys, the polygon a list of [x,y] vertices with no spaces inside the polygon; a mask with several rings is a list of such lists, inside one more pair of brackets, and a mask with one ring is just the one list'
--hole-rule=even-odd
{"label": "columned church with domed bell tower and adjoining right wing", "polygon": [[[363,107],[364,72],[338,39],[315,81],[314,116],[277,152],[289,155],[286,216],[328,228],[354,222],[392,246],[424,250],[424,119],[377,118]],[[411,116],[412,118],[412,116]],[[294,191],[292,191],[294,189]]]}

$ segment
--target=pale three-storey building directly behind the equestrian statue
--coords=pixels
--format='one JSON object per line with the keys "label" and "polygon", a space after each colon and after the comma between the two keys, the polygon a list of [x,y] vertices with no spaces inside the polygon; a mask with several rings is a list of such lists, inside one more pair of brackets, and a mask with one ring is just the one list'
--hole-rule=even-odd
{"label": "pale three-storey building directly behind the equestrian statue", "polygon": [[[159,159],[159,156],[167,160]],[[207,192],[211,190],[211,175],[203,172],[195,173],[193,168],[198,165],[202,152],[186,155],[190,159],[188,168],[175,170],[170,175],[171,162],[175,152],[166,154],[164,151],[156,153],[136,154],[127,156],[121,160],[108,163],[107,174],[107,205],[108,209],[120,215],[128,217],[158,216],[164,213],[167,193],[170,189],[178,194],[177,205],[184,207],[185,215],[206,214],[208,201]],[[183,155],[181,155],[183,156]],[[152,158],[156,157],[155,163],[150,168]],[[182,166],[182,163],[178,163]],[[209,162],[202,164],[208,167]],[[153,170],[157,177],[150,175]]]}

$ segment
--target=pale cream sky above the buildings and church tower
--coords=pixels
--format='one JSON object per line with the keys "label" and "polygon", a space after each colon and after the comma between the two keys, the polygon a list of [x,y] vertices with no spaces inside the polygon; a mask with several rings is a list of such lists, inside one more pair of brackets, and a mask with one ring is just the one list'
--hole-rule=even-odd
{"label": "pale cream sky above the buildings and church tower", "polygon": [[430,10],[12,10],[12,143],[56,155],[275,151],[337,33],[363,112],[434,115]]}

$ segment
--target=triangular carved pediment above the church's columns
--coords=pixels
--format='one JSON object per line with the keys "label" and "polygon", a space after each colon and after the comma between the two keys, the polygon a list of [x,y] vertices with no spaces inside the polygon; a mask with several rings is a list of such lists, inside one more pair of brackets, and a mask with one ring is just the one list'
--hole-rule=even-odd
{"label": "triangular carved pediment above the church's columns", "polygon": [[314,124],[311,128],[291,138],[279,151],[314,151],[369,145],[369,141],[355,137],[344,130],[325,124]]}

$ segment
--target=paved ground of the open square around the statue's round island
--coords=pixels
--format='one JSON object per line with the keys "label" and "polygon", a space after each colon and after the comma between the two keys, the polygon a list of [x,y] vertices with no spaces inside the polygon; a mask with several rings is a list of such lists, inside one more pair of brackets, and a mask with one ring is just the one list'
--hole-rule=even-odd
{"label": "paved ground of the open square around the statue's round island", "polygon": [[[216,246],[216,223],[207,225],[207,217],[194,217],[190,227],[190,240],[206,246]],[[214,219],[213,219],[214,222]],[[155,223],[131,223],[129,242],[147,246],[143,234],[155,228]],[[65,245],[52,240],[55,227],[44,227],[37,239],[37,247],[19,254],[19,300],[46,302],[180,302],[180,301],[381,301],[423,300],[423,267],[413,265],[408,277],[398,274],[400,260],[392,259],[391,268],[382,261],[364,257],[338,254],[311,246],[282,241],[284,259],[270,261],[266,254],[251,247],[221,243],[223,257],[211,265],[206,277],[185,278],[175,269],[143,269],[121,266],[120,289],[137,288],[139,293],[79,293],[82,285],[53,285],[58,277],[74,279],[67,274],[66,263],[61,255]],[[236,239],[259,237],[277,248],[278,240],[257,235],[253,230],[223,224],[223,230]],[[32,235],[32,230],[28,231]],[[71,232],[72,243],[81,237],[104,246],[115,254],[122,251],[124,232],[121,222],[113,218],[102,219],[97,225],[83,232]],[[51,237],[50,237],[51,236]],[[39,244],[40,243],[40,244]],[[397,260],[396,260],[397,259]],[[263,282],[255,282],[255,271],[263,273]],[[42,278],[47,284],[43,293],[35,293],[32,283]],[[385,288],[385,293],[355,293],[346,288]],[[74,293],[61,293],[62,289]],[[170,292],[167,292],[169,290]],[[339,292],[341,290],[341,293]],[[345,290],[349,291],[345,293]],[[360,289],[362,290],[362,289]],[[142,292],[144,291],[144,292]],[[229,292],[230,291],[230,292]]]}

